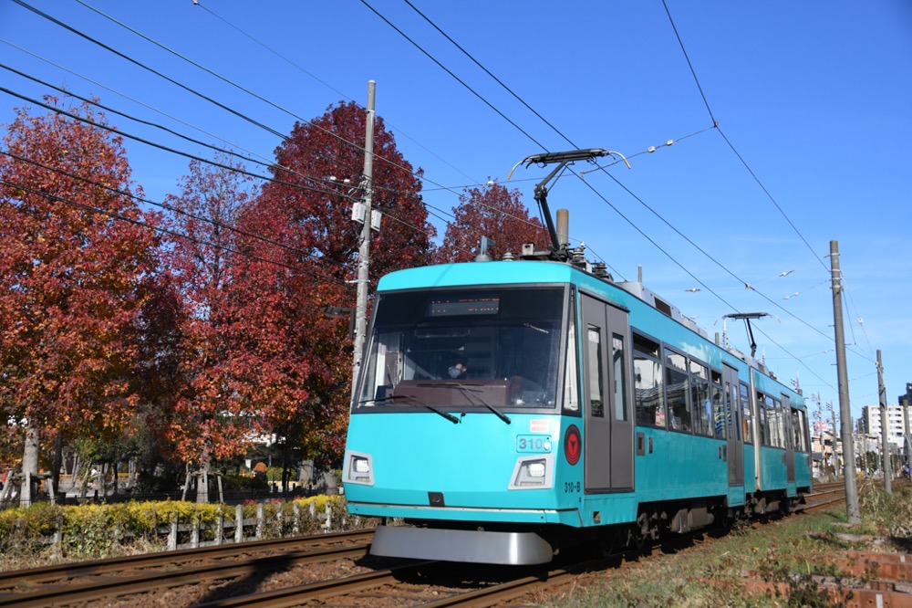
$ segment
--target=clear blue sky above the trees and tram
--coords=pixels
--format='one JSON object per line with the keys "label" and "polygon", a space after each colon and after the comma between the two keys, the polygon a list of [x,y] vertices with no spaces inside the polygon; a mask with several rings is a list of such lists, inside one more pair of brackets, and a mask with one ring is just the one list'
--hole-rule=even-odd
{"label": "clear blue sky above the trees and tram", "polygon": [[[570,210],[571,236],[586,243],[590,257],[606,261],[615,278],[635,279],[642,266],[645,284],[710,335],[721,333],[723,315],[735,310],[772,313],[754,325],[758,356],[783,382],[799,377],[805,394],[820,393],[834,405],[825,256],[836,240],[853,415],[877,404],[876,350],[883,351],[887,403],[896,404],[912,382],[906,0],[668,0],[671,20],[659,0],[411,0],[515,95],[403,0],[27,4],[281,133],[339,100],[364,104],[374,79],[378,115],[405,157],[424,169],[425,201],[444,210],[457,203],[463,185],[505,183],[529,154],[574,147],[621,152],[631,169],[615,164],[586,173],[585,182],[568,174],[553,184],[549,201]],[[274,158],[274,134],[13,0],[0,0],[0,39],[5,66],[206,142]],[[50,92],[5,69],[0,74],[0,86],[17,93]],[[29,104],[0,94],[0,121],[10,121],[21,105]],[[132,121],[111,121],[207,154]],[[126,145],[134,178],[150,199],[176,192],[186,158]],[[657,149],[646,152],[650,147]],[[520,168],[508,185],[534,205],[534,183],[545,173]],[[438,228],[442,236],[445,225]],[[729,321],[727,331],[736,348],[749,351],[740,321]]]}

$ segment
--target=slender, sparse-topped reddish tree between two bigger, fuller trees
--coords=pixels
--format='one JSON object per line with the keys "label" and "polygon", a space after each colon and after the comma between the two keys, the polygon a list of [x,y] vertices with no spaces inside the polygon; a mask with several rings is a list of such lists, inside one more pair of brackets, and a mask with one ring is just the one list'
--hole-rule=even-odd
{"label": "slender, sparse-topped reddish tree between two bigger, fuller trees", "polygon": [[[217,155],[215,162],[222,166],[190,163],[190,173],[179,182],[181,194],[165,198],[163,220],[170,234],[162,257],[182,310],[174,317],[180,344],[172,349],[180,376],[173,378],[166,419],[158,423],[176,456],[200,465],[203,477],[212,457],[243,454],[260,430],[237,387],[250,377],[239,363],[244,342],[234,340],[236,328],[224,310],[240,255],[236,225],[256,191],[228,154]],[[204,478],[201,488],[206,487]]]}

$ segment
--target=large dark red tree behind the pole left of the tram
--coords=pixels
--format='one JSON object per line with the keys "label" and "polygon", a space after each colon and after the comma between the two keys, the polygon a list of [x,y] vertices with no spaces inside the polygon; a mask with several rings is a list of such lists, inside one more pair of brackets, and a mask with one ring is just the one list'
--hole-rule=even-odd
{"label": "large dark red tree behind the pole left of the tram", "polygon": [[[329,307],[355,307],[361,225],[352,203],[364,166],[367,112],[354,103],[330,108],[314,121],[295,124],[276,149],[275,181],[244,216],[244,228],[285,247],[244,237],[253,258],[239,260],[233,284],[234,319],[246,323],[261,357],[275,357],[261,401],[276,431],[299,441],[324,464],[341,456],[350,397],[352,351],[347,320],[326,315]],[[430,262],[434,228],[420,199],[415,172],[377,119],[374,129],[373,206],[383,213],[373,233],[370,279]],[[335,182],[326,178],[336,176]],[[342,180],[349,183],[342,185]],[[277,262],[277,263],[275,263]],[[303,436],[301,436],[303,435]]]}

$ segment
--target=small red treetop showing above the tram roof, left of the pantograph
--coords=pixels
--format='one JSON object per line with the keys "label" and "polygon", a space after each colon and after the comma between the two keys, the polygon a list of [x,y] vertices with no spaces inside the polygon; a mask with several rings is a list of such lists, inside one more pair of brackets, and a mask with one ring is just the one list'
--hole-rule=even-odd
{"label": "small red treetop showing above the tram roof, left of the pantograph", "polygon": [[524,243],[538,247],[550,243],[541,222],[529,216],[519,190],[507,190],[493,183],[466,188],[459,200],[453,209],[456,218],[447,226],[437,252],[439,263],[473,260],[481,253],[482,236],[493,241],[488,249],[492,259],[499,259],[508,251],[515,254]]}

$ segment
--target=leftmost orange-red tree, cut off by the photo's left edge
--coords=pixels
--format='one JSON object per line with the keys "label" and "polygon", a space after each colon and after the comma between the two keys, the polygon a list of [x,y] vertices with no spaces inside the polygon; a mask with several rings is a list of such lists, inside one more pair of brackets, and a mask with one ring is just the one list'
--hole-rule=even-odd
{"label": "leftmost orange-red tree, cut off by the photo's left edge", "polygon": [[[59,107],[57,100],[48,104]],[[68,110],[104,124],[88,103]],[[39,438],[116,434],[139,397],[138,311],[156,245],[121,139],[16,110],[0,156],[0,415]]]}

